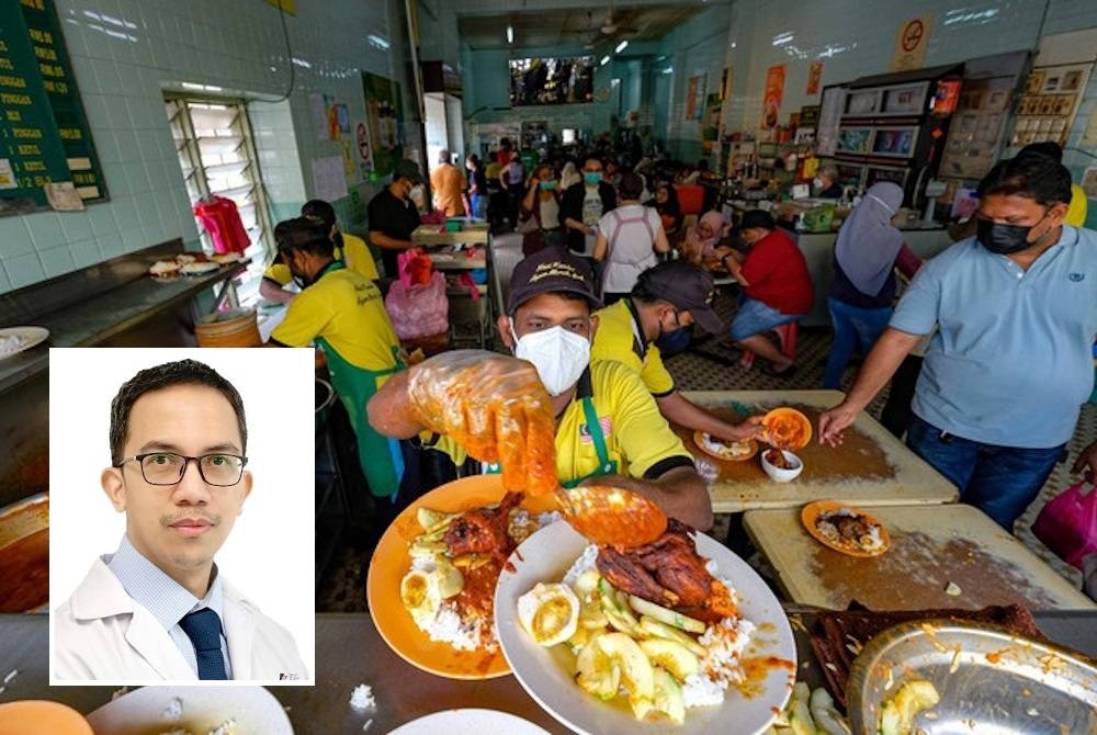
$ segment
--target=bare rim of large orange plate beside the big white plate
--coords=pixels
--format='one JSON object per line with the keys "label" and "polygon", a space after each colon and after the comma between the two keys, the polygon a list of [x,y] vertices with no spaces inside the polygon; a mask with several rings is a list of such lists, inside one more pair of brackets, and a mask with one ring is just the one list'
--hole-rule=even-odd
{"label": "bare rim of large orange plate beside the big white plate", "polygon": [[[494,505],[506,494],[500,475],[473,475],[446,483],[408,506],[381,536],[370,559],[370,575],[365,583],[370,614],[388,647],[412,666],[450,679],[490,679],[510,674],[501,649],[489,654],[457,651],[448,643],[436,643],[419,630],[400,602],[400,580],[411,566],[408,544],[422,533],[416,511],[429,508],[452,513]],[[531,512],[543,512],[554,510],[555,504],[555,495],[527,496],[521,507]]]}

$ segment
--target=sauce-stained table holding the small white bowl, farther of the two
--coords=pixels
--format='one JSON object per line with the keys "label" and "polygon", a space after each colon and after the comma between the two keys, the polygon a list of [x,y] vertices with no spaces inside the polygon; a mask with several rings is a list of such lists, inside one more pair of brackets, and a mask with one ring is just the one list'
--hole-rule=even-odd
{"label": "sauce-stained table holding the small white bowl, farther of the two", "polygon": [[709,486],[712,508],[732,513],[759,508],[799,508],[813,500],[853,505],[907,506],[954,502],[959,494],[943,475],[912,452],[879,421],[861,411],[846,430],[839,446],[819,444],[814,433],[818,417],[838,405],[840,391],[687,391],[689,400],[732,421],[791,407],[807,417],[813,436],[795,450],[804,470],[795,479],[777,483],[761,467],[758,454],[748,460],[722,460],[694,441],[694,432],[674,426],[693,454],[698,472]]}

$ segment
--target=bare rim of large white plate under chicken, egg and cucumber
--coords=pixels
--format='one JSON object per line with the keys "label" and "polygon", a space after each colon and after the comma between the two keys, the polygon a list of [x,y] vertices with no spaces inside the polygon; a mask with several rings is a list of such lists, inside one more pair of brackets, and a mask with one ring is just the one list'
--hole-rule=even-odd
{"label": "bare rim of large white plate under chicken, egg and cucumber", "polygon": [[770,668],[765,681],[759,682],[758,693],[750,699],[731,687],[724,693],[723,704],[686,710],[686,723],[681,726],[640,722],[623,698],[602,702],[579,689],[572,679],[575,656],[565,645],[544,648],[530,640],[518,622],[518,598],[539,581],[561,581],[586,546],[587,540],[565,522],[541,529],[511,555],[514,570],[504,569],[495,588],[495,625],[502,653],[518,681],[548,714],[575,732],[588,735],[666,732],[750,735],[761,733],[773,722],[791,694],[796,670],[792,627],[761,577],[726,546],[703,533],[697,534],[698,553],[715,561],[717,577],[732,580],[739,611],[758,629],[745,657],[776,656],[790,662],[791,667]]}

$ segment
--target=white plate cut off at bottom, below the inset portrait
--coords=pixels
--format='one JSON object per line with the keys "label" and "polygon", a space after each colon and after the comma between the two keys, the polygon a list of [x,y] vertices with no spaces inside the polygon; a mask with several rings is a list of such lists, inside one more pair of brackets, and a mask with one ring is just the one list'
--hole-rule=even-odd
{"label": "white plate cut off at bottom, below the inset portrait", "polygon": [[[177,698],[182,716],[169,720],[165,712]],[[235,720],[241,733],[293,735],[282,704],[262,687],[143,687],[88,715],[97,733],[110,735],[148,735],[176,727],[206,735],[226,720]]]}

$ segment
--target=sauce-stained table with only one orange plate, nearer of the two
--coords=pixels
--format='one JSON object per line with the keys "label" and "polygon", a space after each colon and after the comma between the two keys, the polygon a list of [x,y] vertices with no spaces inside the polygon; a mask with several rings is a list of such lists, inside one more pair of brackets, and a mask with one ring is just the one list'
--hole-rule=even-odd
{"label": "sauce-stained table with only one orange plate, nearer of the two", "polygon": [[801,510],[749,510],[744,527],[785,599],[830,610],[1090,610],[1097,604],[973,506],[862,506],[890,545],[878,556],[835,551],[808,534]]}

